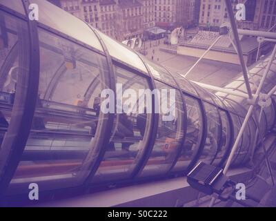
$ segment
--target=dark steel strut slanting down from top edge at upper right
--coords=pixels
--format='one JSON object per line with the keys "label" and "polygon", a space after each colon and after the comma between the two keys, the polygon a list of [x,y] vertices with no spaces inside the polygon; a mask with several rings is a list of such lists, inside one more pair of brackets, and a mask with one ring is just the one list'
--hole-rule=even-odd
{"label": "dark steel strut slanting down from top edge at upper right", "polygon": [[243,55],[243,52],[242,52],[242,46],[241,46],[241,43],[239,41],[239,33],[237,32],[237,25],[236,25],[236,21],[235,21],[235,16],[234,16],[232,4],[231,4],[230,0],[225,0],[225,3],[226,3],[226,8],[228,10],[228,15],[229,15],[229,19],[230,19],[231,28],[232,28],[232,31],[233,31],[235,43],[236,43],[236,46],[237,46],[237,54],[239,55],[239,62],[241,63],[241,66],[242,66],[242,73],[244,75],[244,81],[245,81],[245,84],[246,84],[246,90],[247,90],[247,93],[248,93],[248,97],[249,97],[249,99],[253,99],[253,95],[252,95],[252,91],[251,91],[250,84],[249,84],[249,79],[248,79],[247,68],[246,68],[246,64],[244,62],[244,55]]}

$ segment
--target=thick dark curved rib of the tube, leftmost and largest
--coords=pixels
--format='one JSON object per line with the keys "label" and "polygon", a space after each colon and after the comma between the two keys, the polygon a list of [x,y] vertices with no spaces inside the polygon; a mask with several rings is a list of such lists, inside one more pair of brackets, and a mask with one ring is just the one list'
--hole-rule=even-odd
{"label": "thick dark curved rib of the tube, leftmost and largest", "polygon": [[[30,3],[27,0],[22,0],[18,3],[23,3],[26,15],[28,15]],[[40,64],[37,21],[28,19],[26,26],[27,23],[28,30],[23,30],[22,27],[22,33],[18,34],[19,42],[21,41],[21,46],[19,47],[21,75],[17,79],[17,91],[10,125],[0,148],[0,197],[8,188],[10,180],[12,180],[12,176],[21,160],[37,103]],[[27,44],[25,42],[26,39],[28,39]]]}

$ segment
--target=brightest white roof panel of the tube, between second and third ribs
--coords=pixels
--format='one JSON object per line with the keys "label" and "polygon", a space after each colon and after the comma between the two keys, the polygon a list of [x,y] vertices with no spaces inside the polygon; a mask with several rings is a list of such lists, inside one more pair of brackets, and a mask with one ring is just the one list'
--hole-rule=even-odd
{"label": "brightest white roof panel of the tube, between second and third ribs", "polygon": [[135,52],[130,50],[130,48],[129,49],[126,48],[127,46],[119,44],[119,42],[108,37],[102,32],[98,30],[97,32],[99,33],[99,36],[103,39],[104,44],[106,44],[106,48],[108,48],[108,52],[112,57],[115,57],[126,64],[129,64],[135,68],[138,68],[144,73],[148,73],[148,70],[146,69],[144,62]]}

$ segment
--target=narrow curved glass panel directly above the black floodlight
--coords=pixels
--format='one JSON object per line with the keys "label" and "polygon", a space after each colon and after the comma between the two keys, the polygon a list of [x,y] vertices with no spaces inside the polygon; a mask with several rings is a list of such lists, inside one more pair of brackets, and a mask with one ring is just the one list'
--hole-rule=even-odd
{"label": "narrow curved glass panel directly above the black floodlight", "polygon": [[221,123],[216,106],[204,102],[204,108],[207,117],[207,137],[200,161],[210,163],[220,148]]}

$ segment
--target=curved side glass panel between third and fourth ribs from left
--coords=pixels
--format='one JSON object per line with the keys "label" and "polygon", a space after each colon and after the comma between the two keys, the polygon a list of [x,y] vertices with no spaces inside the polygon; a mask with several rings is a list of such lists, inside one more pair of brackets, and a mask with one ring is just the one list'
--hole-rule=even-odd
{"label": "curved side glass panel between third and fourth ribs from left", "polygon": [[[176,160],[179,144],[184,135],[182,126],[184,104],[182,104],[181,94],[178,90],[158,81],[156,81],[156,86],[159,91],[164,91],[160,99],[162,109],[159,115],[157,138],[148,162],[139,174],[140,177],[167,173]],[[169,115],[164,106],[170,109]]]}

